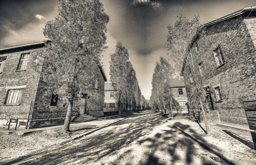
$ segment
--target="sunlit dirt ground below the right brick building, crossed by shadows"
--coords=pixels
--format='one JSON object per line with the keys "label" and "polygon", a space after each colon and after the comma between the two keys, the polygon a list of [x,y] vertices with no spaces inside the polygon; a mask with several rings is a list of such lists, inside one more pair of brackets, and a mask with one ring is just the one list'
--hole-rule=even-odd
{"label": "sunlit dirt ground below the right brick building, crossed by shadows", "polygon": [[209,124],[211,135],[207,136],[204,132],[206,130],[204,122],[199,123],[200,125],[188,119],[175,119],[170,122],[177,124],[190,133],[203,137],[209,145],[217,148],[227,159],[235,164],[256,165],[256,151],[249,132]]}

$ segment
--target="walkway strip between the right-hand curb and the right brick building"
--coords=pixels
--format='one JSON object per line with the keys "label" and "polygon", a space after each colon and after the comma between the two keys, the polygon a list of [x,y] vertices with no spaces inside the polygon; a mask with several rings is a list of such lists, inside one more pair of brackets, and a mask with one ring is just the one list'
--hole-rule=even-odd
{"label": "walkway strip between the right-hand curb and the right brick building", "polygon": [[[211,123],[209,124],[211,135],[208,136],[205,133],[204,122],[196,123],[189,119],[167,119],[166,121],[230,164],[256,165],[256,151],[246,126],[222,122]],[[220,127],[220,124],[226,127]]]}

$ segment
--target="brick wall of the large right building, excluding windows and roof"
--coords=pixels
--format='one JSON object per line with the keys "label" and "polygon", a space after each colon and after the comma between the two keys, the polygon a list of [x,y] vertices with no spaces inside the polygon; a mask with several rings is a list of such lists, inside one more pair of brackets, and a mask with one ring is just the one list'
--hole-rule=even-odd
{"label": "brick wall of the large right building, excluding windows and roof", "polygon": [[[210,88],[214,110],[224,122],[246,124],[242,101],[256,99],[256,31],[252,28],[255,27],[255,17],[254,14],[244,20],[239,16],[215,23],[207,27],[207,38],[198,41],[199,49],[204,43],[209,46],[204,49],[205,56],[194,58],[195,64],[203,60],[211,71],[205,75],[205,85]],[[225,64],[217,68],[213,50],[218,46],[222,49]],[[220,87],[222,101],[217,101],[214,87]],[[196,110],[198,101],[192,93],[193,89],[188,89],[189,110]]]}

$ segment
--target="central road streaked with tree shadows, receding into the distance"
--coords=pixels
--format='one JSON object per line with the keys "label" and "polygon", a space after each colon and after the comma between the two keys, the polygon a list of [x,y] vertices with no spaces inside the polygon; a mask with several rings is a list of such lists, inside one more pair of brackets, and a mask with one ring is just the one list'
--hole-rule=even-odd
{"label": "central road streaked with tree shadows, receding into the distance", "polygon": [[221,164],[210,156],[217,157],[154,113],[145,112],[58,148],[24,156],[9,164]]}

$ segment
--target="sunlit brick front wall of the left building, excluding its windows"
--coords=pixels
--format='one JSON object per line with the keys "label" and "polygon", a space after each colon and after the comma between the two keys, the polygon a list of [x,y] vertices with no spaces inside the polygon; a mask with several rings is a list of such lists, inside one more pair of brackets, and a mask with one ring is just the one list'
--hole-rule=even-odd
{"label": "sunlit brick front wall of the left building, excluding its windows", "polygon": [[[35,100],[39,74],[28,62],[26,71],[16,71],[23,53],[33,55],[41,53],[41,49],[15,49],[0,52],[0,57],[7,57],[3,72],[0,73],[0,127],[5,127],[9,119],[19,119],[26,122],[29,116],[31,101]],[[23,89],[20,105],[4,105],[9,90]],[[19,124],[19,123],[18,123]]]}

